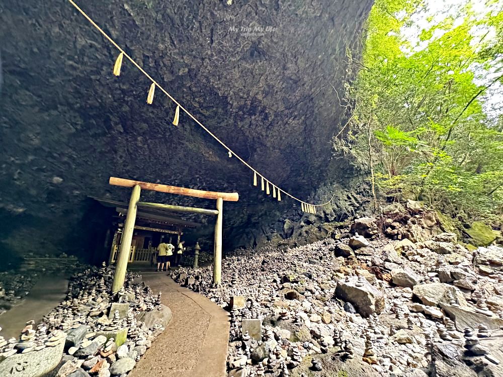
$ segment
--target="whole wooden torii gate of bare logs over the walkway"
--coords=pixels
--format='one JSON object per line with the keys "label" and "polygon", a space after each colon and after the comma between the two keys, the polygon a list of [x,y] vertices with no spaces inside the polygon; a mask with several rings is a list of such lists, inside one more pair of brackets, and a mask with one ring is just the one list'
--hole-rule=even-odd
{"label": "whole wooden torii gate of bare logs over the walkway", "polygon": [[[216,193],[212,191],[202,191],[186,189],[185,187],[168,186],[158,183],[147,183],[139,180],[131,180],[117,177],[110,177],[109,183],[114,186],[133,187],[129,207],[127,211],[126,221],[124,222],[124,230],[122,233],[121,246],[117,257],[117,266],[115,268],[114,281],[112,282],[112,292],[117,293],[124,285],[126,277],[127,261],[129,250],[131,248],[131,240],[133,238],[134,222],[136,219],[136,210],[138,208],[155,208],[163,210],[171,210],[175,212],[191,212],[201,215],[216,215],[215,223],[215,248],[213,252],[213,282],[219,283],[222,278],[222,217],[223,217],[223,201],[237,202],[239,195],[237,193]],[[146,203],[140,202],[141,190],[157,191],[159,193],[169,193],[177,195],[185,195],[188,197],[196,197],[203,199],[214,199],[217,201],[216,210],[208,210],[205,208],[172,206],[169,204]]]}

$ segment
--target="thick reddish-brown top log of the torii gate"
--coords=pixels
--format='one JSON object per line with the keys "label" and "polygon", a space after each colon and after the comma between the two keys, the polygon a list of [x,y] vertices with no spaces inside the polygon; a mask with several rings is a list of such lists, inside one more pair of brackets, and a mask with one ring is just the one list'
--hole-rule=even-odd
{"label": "thick reddish-brown top log of the torii gate", "polygon": [[217,193],[213,191],[186,189],[185,187],[168,186],[165,184],[158,184],[158,183],[148,183],[148,182],[142,182],[140,180],[110,177],[109,183],[113,186],[122,186],[122,187],[134,187],[135,185],[139,185],[142,190],[157,191],[159,193],[185,195],[188,197],[195,197],[195,198],[203,198],[203,199],[222,198],[222,200],[227,202],[237,202],[239,200],[239,194],[237,193]]}

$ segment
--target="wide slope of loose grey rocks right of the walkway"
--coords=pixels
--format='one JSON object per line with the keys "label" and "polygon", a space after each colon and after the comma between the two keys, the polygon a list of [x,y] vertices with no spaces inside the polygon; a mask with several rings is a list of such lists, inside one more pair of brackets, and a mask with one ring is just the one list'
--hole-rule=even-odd
{"label": "wide slope of loose grey rocks right of the walkway", "polygon": [[366,218],[339,240],[235,251],[219,286],[211,266],[174,272],[230,311],[228,376],[503,375],[479,344],[503,334],[503,248],[470,252],[410,206],[406,225],[380,221],[394,240]]}

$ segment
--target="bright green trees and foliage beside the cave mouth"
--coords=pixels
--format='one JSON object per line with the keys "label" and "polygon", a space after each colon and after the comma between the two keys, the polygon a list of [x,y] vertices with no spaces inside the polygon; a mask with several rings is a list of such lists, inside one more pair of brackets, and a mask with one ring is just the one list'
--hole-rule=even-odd
{"label": "bright green trees and foliage beside the cave mouth", "polygon": [[347,144],[369,167],[370,148],[381,193],[413,192],[463,221],[501,221],[503,115],[487,101],[503,77],[503,10],[467,0],[410,42],[404,30],[423,7],[376,1],[362,61],[349,56],[358,75],[345,93],[355,104]]}

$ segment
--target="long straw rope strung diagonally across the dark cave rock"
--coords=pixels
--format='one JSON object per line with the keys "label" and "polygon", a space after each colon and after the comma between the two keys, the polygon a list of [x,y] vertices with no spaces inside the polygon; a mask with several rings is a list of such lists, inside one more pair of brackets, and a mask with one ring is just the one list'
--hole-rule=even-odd
{"label": "long straw rope strung diagonally across the dark cave rock", "polygon": [[[96,22],[93,21],[93,19],[91,19],[91,17],[89,17],[86,12],[82,11],[80,9],[80,7],[78,7],[74,2],[73,0],[68,0],[68,2],[82,15],[84,16],[90,23],[91,25],[93,25],[112,45],[114,45],[115,48],[117,48],[120,52],[121,52],[121,55],[125,56],[136,68],[138,68],[138,70],[143,73],[151,82],[152,82],[152,85],[151,85],[151,88],[150,88],[150,91],[149,91],[149,99],[150,99],[150,93],[152,94],[152,97],[153,97],[153,88],[154,87],[157,87],[159,88],[159,90],[161,90],[164,95],[166,95],[166,97],[168,97],[170,100],[172,100],[181,110],[183,110],[185,112],[185,114],[187,114],[189,117],[192,118],[192,120],[194,122],[196,122],[203,130],[205,130],[211,137],[213,137],[213,139],[215,139],[217,142],[219,142],[228,152],[229,152],[229,156],[232,155],[234,157],[236,157],[241,163],[243,163],[245,166],[247,166],[251,171],[254,172],[254,174],[257,174],[259,175],[261,178],[263,178],[266,182],[268,183],[271,183],[274,187],[276,187],[278,193],[283,193],[285,194],[286,196],[290,197],[291,199],[297,201],[297,202],[300,202],[301,204],[304,204],[305,207],[322,207],[322,206],[326,206],[327,204],[329,204],[333,197],[335,196],[335,194],[332,195],[332,197],[330,198],[330,200],[328,202],[325,202],[325,203],[322,203],[322,204],[310,204],[310,203],[307,203],[303,200],[300,200],[299,198],[296,198],[295,196],[291,195],[290,193],[284,191],[283,189],[280,189],[280,187],[278,187],[277,185],[273,184],[269,179],[267,179],[266,177],[264,177],[264,175],[260,174],[256,169],[254,169],[250,164],[248,164],[246,161],[244,161],[236,152],[234,152],[232,149],[230,149],[223,141],[221,141],[215,134],[213,134],[208,128],[206,128],[201,122],[199,122],[199,120],[194,117],[187,109],[185,109],[172,95],[170,95],[170,93],[168,93],[157,81],[155,81],[138,63],[136,63],[136,61],[131,57],[129,56],[126,51],[124,51],[107,33],[105,33],[105,31],[103,31],[102,28],[100,28],[100,26],[98,26],[98,24]],[[122,64],[122,57],[120,58],[120,63]],[[117,64],[117,63],[116,63]],[[114,67],[114,74],[116,73],[117,71],[117,67]],[[118,69],[118,72],[120,73],[120,66],[119,66],[119,69]],[[151,102],[150,102],[151,103]],[[178,123],[178,121],[177,121]],[[269,188],[269,187],[268,187]],[[279,195],[279,200],[281,200],[281,196],[280,194]],[[314,211],[314,210],[313,210]],[[310,210],[307,210],[305,212],[311,212]]]}

